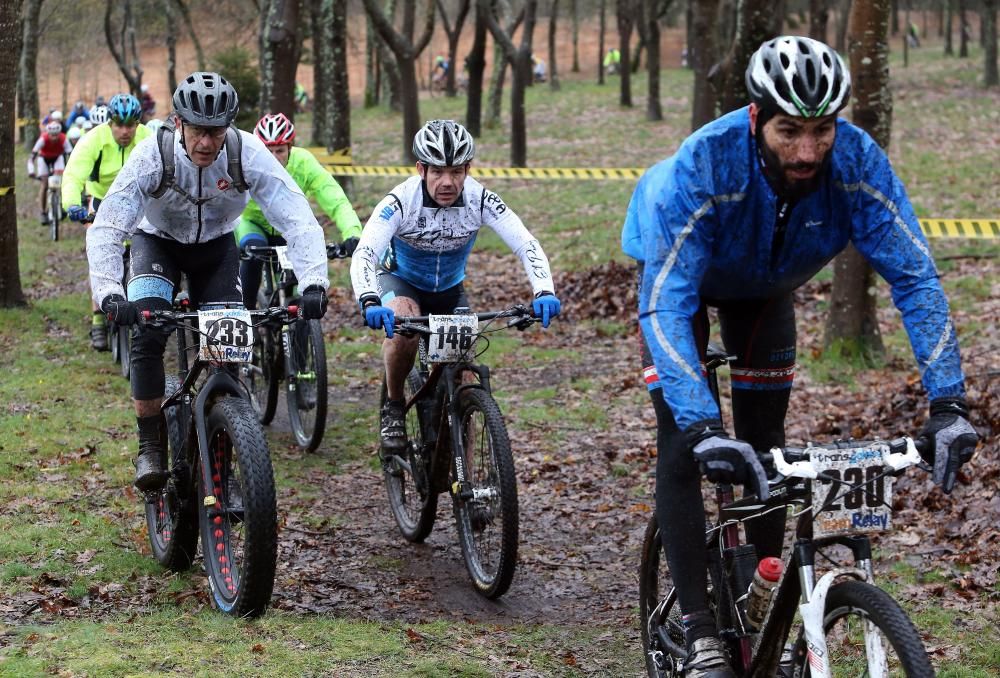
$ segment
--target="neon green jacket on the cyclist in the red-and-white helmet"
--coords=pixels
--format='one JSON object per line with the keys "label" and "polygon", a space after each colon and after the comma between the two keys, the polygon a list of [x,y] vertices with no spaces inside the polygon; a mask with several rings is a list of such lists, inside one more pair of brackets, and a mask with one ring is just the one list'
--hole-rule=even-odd
{"label": "neon green jacket on the cyclist in the red-and-white helmet", "polygon": [[[341,240],[361,236],[361,220],[354,212],[351,201],[344,195],[344,189],[330,176],[329,172],[323,169],[319,160],[312,153],[304,148],[293,146],[288,154],[288,165],[285,166],[285,169],[288,170],[306,197],[315,200],[320,209],[337,225]],[[264,213],[253,200],[247,203],[242,218],[261,227],[265,233],[280,235],[267,222]]]}

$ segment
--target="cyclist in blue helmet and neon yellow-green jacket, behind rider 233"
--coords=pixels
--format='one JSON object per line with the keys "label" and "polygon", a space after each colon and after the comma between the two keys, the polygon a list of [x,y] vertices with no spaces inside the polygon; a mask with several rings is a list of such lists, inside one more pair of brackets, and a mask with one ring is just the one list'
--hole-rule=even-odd
{"label": "cyclist in blue helmet and neon yellow-green jacket, behind rider 233", "polygon": [[[82,221],[97,211],[129,155],[149,136],[139,125],[139,114],[139,100],[131,94],[116,94],[107,106],[91,111],[96,126],[77,143],[63,173],[62,205],[71,220]],[[85,192],[89,205],[84,203]],[[107,351],[107,317],[96,303],[91,310],[90,346]]]}

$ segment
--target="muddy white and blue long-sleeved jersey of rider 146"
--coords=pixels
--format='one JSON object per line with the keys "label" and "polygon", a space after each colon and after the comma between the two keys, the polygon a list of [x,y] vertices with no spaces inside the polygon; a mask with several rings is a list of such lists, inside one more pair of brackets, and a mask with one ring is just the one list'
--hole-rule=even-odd
{"label": "muddy white and blue long-sleeved jersey of rider 146", "polygon": [[545,252],[500,196],[466,177],[455,203],[441,207],[417,176],[385,196],[365,224],[351,261],[355,296],[379,294],[380,267],[425,292],[454,287],[465,279],[465,262],[482,226],[521,259],[534,294],[554,291]]}

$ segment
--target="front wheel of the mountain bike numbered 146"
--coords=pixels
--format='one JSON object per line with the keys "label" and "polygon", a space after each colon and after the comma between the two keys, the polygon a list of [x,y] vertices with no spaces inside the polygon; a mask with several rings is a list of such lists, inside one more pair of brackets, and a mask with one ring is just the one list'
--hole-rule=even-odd
{"label": "front wheel of the mountain bike numbered 146", "polygon": [[[503,415],[482,388],[459,396],[465,476],[473,496],[453,497],[465,566],[476,590],[499,598],[510,588],[517,565],[518,506],[514,457]],[[452,482],[457,482],[452,469]]]}

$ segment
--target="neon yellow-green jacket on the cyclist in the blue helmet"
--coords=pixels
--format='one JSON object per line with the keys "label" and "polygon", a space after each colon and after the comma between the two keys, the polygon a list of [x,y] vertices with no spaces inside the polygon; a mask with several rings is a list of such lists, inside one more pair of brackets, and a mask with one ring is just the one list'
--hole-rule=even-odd
{"label": "neon yellow-green jacket on the cyclist in the blue helmet", "polygon": [[103,200],[132,149],[151,134],[145,125],[137,126],[132,143],[125,148],[119,146],[111,134],[111,123],[98,125],[84,134],[73,148],[63,172],[63,209],[80,204],[84,186],[88,194]]}

